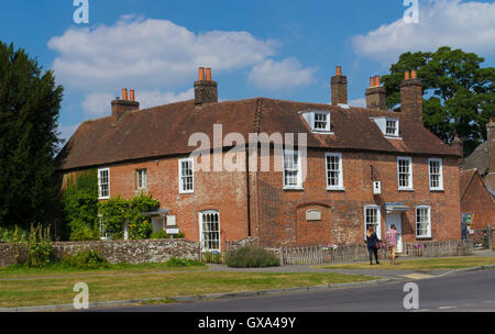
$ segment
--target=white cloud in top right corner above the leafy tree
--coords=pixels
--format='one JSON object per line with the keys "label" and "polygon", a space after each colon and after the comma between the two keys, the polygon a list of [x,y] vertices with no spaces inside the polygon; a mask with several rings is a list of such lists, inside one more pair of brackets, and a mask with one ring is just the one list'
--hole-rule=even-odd
{"label": "white cloud in top right corner above the leafy tree", "polygon": [[[405,8],[406,10],[406,8]],[[440,46],[462,48],[481,56],[495,54],[495,3],[461,0],[419,2],[419,23],[403,18],[365,35],[354,36],[354,51],[381,62],[394,62],[407,51],[428,52]]]}

